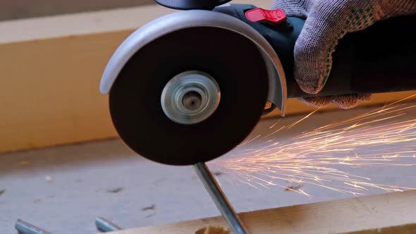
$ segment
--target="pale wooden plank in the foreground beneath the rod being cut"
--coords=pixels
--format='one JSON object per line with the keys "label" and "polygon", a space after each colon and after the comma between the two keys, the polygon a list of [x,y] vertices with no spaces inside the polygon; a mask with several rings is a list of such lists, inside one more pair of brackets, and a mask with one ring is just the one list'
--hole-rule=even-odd
{"label": "pale wooden plank in the foreground beneath the rod being cut", "polygon": [[[240,214],[250,233],[414,233],[416,190],[303,204]],[[227,227],[222,217],[122,230],[114,234],[193,234],[207,226]],[[391,232],[390,232],[391,233]],[[398,232],[399,233],[399,232]]]}

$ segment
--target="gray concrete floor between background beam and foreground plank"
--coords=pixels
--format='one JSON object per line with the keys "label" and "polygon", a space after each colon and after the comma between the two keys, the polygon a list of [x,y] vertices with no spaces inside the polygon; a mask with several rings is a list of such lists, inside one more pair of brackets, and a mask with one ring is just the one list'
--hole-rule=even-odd
{"label": "gray concrete floor between background beam and foreground plank", "polygon": [[[374,109],[374,108],[372,108]],[[286,133],[292,135],[326,123],[356,116],[368,109],[317,113]],[[414,113],[400,116],[414,118]],[[288,116],[287,124],[302,116]],[[253,136],[269,130],[276,119],[259,123]],[[255,143],[250,144],[250,147]],[[241,149],[241,148],[240,148]],[[238,154],[238,150],[230,154]],[[415,149],[410,149],[415,151]],[[360,154],[360,152],[357,152]],[[400,159],[413,164],[416,159]],[[415,166],[344,168],[377,183],[416,187]],[[213,168],[214,172],[216,168]],[[237,211],[252,211],[305,204],[353,195],[305,185],[306,197],[283,187],[257,190],[219,180]],[[285,182],[281,181],[284,185]],[[289,185],[289,184],[288,184]],[[94,218],[103,216],[123,228],[153,226],[217,216],[214,204],[190,166],[153,163],[135,155],[121,140],[52,147],[29,152],[0,154],[0,233],[16,233],[17,218],[51,233],[97,233]],[[384,192],[368,190],[369,194]]]}

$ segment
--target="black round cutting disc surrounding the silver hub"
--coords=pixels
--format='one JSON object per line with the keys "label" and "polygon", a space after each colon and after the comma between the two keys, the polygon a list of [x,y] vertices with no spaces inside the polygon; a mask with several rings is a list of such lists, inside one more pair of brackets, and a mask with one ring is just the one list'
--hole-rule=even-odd
{"label": "black round cutting disc surrounding the silver hub", "polygon": [[[200,123],[172,121],[161,93],[178,74],[200,70],[221,90],[214,113]],[[190,165],[229,152],[257,125],[267,99],[267,68],[250,39],[217,27],[190,27],[137,51],[110,92],[114,126],[128,147],[152,161]]]}

